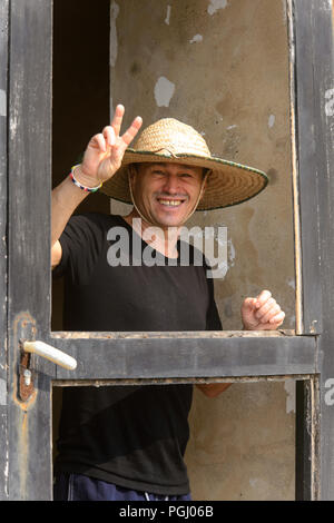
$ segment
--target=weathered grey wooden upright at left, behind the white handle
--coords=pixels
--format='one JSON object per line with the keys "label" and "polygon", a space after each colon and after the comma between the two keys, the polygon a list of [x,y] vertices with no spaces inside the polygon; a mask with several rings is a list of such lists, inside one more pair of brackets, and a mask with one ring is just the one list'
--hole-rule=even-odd
{"label": "weathered grey wooden upright at left, behind the white handle", "polygon": [[19,341],[50,318],[51,0],[10,2],[9,85],[9,499],[51,499],[50,378],[33,362],[36,394],[18,398]]}

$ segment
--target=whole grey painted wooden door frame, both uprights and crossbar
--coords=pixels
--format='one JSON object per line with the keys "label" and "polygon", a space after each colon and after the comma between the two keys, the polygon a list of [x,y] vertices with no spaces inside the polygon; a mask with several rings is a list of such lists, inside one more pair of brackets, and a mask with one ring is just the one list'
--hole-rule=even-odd
{"label": "whole grey painted wooden door frame, both uprights and crossbar", "polygon": [[[0,227],[7,241],[0,247],[8,253],[8,266],[2,258],[0,262],[1,289],[4,296],[8,292],[7,307],[0,315],[1,342],[8,347],[8,371],[0,374],[0,379],[8,379],[7,394],[0,396],[0,442],[4,442],[7,456],[6,474],[0,475],[3,499],[52,496],[53,384],[287,376],[302,383],[297,414],[297,455],[302,456],[297,484],[302,489],[297,495],[334,499],[334,411],[324,401],[327,379],[334,376],[333,116],[326,105],[326,93],[333,88],[332,7],[328,0],[287,1],[293,37],[294,189],[298,204],[295,239],[302,309],[298,334],[88,334],[50,332],[51,275],[46,246],[50,238],[52,1],[0,0],[0,13],[8,17],[9,28],[9,33],[1,34],[1,58],[9,57],[8,69],[6,61],[0,62],[0,81],[9,98],[4,141],[0,144],[1,151],[7,151],[6,160],[1,157],[0,179],[4,205]],[[79,361],[72,374],[33,357],[36,392],[26,403],[18,398],[22,338],[45,341]]]}

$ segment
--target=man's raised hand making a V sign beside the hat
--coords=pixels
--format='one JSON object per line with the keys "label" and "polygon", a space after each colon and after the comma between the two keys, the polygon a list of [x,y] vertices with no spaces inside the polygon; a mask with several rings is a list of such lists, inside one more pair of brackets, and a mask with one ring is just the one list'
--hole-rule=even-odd
{"label": "man's raised hand making a V sign beside the hat", "polygon": [[105,182],[119,169],[127,147],[141,127],[140,117],[135,118],[126,132],[120,136],[125,114],[124,106],[118,105],[110,126],[95,135],[89,141],[82,164],[76,169],[76,178],[84,185],[95,186]]}

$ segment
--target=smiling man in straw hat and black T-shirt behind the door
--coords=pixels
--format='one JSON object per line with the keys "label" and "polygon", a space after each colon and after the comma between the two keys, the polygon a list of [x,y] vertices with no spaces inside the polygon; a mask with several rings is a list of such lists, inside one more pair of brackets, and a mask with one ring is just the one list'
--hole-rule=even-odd
{"label": "smiling man in straw hat and black T-shirt behind the door", "polygon": [[[195,264],[191,249],[183,264],[180,227],[196,209],[255,196],[266,177],[212,157],[203,137],[174,119],[149,126],[130,149],[141,119],[120,136],[122,117],[118,106],[111,126],[52,191],[51,259],[55,277],[66,275],[65,328],[219,330],[207,262]],[[71,216],[98,188],[131,201],[131,213]],[[110,256],[115,230],[130,238],[120,248],[122,264]],[[243,303],[245,329],[275,329],[283,319],[268,290]],[[212,397],[227,387],[199,385]],[[66,388],[55,499],[189,500],[184,453],[191,394],[188,384]]]}

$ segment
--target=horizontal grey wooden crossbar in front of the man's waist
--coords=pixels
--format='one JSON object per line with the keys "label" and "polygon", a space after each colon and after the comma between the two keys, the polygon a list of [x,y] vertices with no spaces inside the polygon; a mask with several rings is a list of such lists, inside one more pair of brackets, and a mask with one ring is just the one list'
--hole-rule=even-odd
{"label": "horizontal grey wooden crossbar in front of the man's waist", "polygon": [[73,356],[57,379],[303,375],[317,372],[315,336],[245,333],[52,333],[50,345]]}

